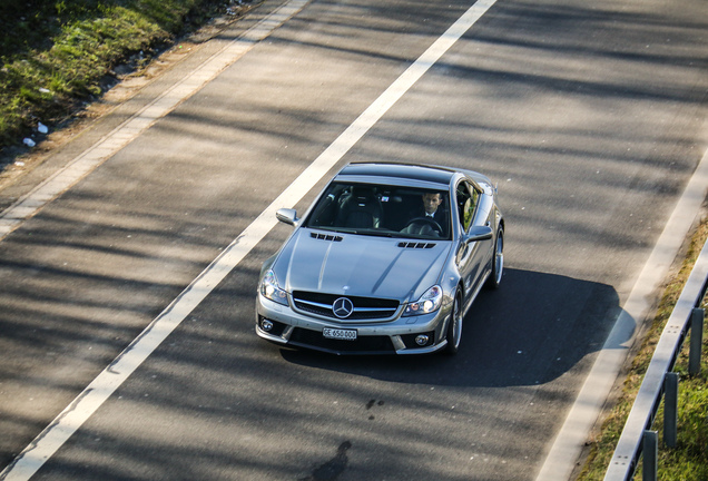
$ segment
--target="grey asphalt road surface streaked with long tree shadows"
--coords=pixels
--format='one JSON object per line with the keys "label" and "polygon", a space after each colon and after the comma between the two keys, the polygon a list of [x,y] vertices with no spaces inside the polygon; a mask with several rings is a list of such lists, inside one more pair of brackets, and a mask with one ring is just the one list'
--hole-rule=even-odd
{"label": "grey asphalt road surface streaked with long tree shadows", "polygon": [[[313,0],[2,240],[0,468],[470,4]],[[704,18],[700,0],[499,0],[337,163],[499,183],[507,271],[458,356],[256,338],[279,225],[33,479],[534,480],[708,145]]]}

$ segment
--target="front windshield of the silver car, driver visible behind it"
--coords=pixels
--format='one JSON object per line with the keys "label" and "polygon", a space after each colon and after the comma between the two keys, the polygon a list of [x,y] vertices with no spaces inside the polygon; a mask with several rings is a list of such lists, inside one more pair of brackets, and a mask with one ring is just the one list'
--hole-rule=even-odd
{"label": "front windshield of the silver car, driver visible behind it", "polygon": [[449,239],[448,197],[444,190],[333,183],[305,226],[362,235]]}

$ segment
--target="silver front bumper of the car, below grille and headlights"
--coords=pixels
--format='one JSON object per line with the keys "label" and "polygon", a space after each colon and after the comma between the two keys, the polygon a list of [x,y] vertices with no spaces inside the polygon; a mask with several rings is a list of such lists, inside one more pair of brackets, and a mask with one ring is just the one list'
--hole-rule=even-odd
{"label": "silver front bumper of the car, below grille and headlights", "polygon": [[[399,316],[393,320],[340,323],[333,318],[305,315],[260,294],[256,301],[256,334],[266,341],[293,347],[305,347],[331,354],[427,354],[443,349],[446,321],[451,305],[420,316]],[[266,323],[267,322],[267,323]],[[268,331],[264,324],[269,324]],[[323,335],[325,327],[355,330],[355,341],[332,340]],[[423,346],[419,335],[429,336]]]}

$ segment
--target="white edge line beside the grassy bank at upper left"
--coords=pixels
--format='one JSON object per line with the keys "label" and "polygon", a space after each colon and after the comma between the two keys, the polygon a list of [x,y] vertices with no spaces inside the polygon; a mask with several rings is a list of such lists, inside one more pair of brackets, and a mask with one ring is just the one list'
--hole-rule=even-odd
{"label": "white edge line beside the grassy bank at upper left", "polygon": [[244,32],[243,36],[226,43],[223,49],[205,60],[190,75],[167,89],[140,111],[86,149],[67,167],[38,185],[26,196],[19,198],[0,214],[0,240],[118,150],[135,140],[184,100],[199,91],[222,70],[243,57],[258,41],[268,37],[273,30],[301,11],[308,2],[309,0],[291,0],[281,6]]}

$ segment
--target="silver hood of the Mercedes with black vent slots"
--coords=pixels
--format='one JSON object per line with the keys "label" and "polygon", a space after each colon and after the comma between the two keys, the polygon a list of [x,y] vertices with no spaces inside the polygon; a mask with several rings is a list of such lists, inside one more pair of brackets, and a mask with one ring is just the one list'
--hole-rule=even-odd
{"label": "silver hood of the Mercedes with black vent slots", "polygon": [[414,301],[439,282],[451,244],[301,228],[273,271],[288,292]]}

